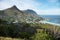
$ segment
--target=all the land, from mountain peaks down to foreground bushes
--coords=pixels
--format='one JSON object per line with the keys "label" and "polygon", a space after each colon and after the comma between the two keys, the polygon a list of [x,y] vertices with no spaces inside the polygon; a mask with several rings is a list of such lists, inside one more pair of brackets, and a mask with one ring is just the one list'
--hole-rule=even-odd
{"label": "all the land, from mountain peaks down to foreground bushes", "polygon": [[59,40],[60,27],[40,20],[44,19],[30,9],[13,6],[0,11],[0,40]]}

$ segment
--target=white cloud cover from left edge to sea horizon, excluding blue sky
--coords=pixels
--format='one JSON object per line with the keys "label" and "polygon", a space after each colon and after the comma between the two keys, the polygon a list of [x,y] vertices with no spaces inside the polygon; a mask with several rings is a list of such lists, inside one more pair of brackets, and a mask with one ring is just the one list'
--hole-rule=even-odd
{"label": "white cloud cover from left edge to sea horizon, excluding blue sky", "polygon": [[[48,0],[49,2],[56,2],[57,0]],[[0,10],[16,5],[20,10],[32,9],[40,15],[60,15],[60,9],[38,9],[37,6],[43,5],[34,0],[4,0],[0,2]],[[46,5],[45,5],[46,6]]]}

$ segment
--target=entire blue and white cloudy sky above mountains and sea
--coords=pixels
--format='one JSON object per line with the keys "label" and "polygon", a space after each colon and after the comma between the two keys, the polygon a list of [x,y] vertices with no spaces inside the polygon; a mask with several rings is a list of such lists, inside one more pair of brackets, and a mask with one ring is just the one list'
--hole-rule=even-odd
{"label": "entire blue and white cloudy sky above mountains and sea", "polygon": [[39,15],[60,15],[60,0],[0,0],[0,10],[13,5],[19,10],[32,9]]}

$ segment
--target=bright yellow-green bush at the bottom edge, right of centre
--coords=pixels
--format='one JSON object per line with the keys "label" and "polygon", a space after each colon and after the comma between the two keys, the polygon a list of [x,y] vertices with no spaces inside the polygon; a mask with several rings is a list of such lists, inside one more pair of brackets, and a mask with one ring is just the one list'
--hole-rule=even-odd
{"label": "bright yellow-green bush at the bottom edge, right of centre", "polygon": [[43,29],[37,29],[37,34],[34,40],[52,40]]}

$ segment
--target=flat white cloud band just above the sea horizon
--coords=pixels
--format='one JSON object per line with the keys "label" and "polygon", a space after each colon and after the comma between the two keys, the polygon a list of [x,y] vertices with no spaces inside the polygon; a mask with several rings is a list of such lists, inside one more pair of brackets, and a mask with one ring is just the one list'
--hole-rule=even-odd
{"label": "flat white cloud band just above the sea horizon", "polygon": [[40,15],[60,15],[60,9],[38,10]]}

